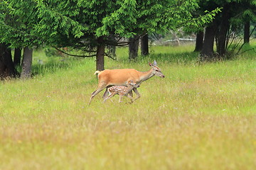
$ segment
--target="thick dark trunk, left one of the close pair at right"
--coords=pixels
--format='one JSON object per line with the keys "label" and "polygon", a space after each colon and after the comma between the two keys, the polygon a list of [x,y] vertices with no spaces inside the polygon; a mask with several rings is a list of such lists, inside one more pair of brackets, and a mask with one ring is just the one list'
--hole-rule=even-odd
{"label": "thick dark trunk, left one of the close pair at right", "polygon": [[213,45],[214,45],[214,37],[217,26],[213,21],[211,26],[206,27],[206,33],[203,40],[203,49],[201,51],[201,61],[207,61],[213,59]]}

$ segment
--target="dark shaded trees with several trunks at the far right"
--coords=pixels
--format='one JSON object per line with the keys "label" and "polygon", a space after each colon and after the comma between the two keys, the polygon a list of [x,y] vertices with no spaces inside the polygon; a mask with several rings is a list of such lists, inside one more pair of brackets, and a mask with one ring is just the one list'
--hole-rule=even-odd
{"label": "dark shaded trees with several trunks at the far right", "polygon": [[[198,31],[195,50],[201,52],[200,60],[218,60],[230,57],[227,55],[228,47],[236,36],[234,33],[239,33],[241,30],[244,30],[244,43],[249,43],[250,35],[255,30],[255,0],[200,1],[200,6],[201,10],[222,7],[222,12],[218,13],[204,30]],[[254,27],[251,32],[250,22]],[[214,40],[216,52],[213,50]]]}

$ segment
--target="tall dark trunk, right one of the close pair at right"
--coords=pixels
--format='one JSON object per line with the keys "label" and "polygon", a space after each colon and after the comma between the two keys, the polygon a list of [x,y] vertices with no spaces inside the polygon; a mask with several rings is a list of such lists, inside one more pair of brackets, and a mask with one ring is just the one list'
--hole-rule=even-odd
{"label": "tall dark trunk, right one of the close pair at right", "polygon": [[227,41],[227,33],[230,27],[230,6],[225,6],[223,13],[221,13],[221,23],[220,30],[217,35],[217,52],[220,57],[225,55],[226,52],[226,41]]}

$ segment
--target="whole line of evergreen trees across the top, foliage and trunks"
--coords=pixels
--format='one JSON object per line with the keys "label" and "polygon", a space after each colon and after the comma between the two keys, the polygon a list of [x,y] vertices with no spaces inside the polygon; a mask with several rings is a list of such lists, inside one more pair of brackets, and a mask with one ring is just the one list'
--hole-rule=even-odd
{"label": "whole line of evergreen trees across the top, foliage and trunks", "polygon": [[80,57],[96,57],[96,69],[103,70],[114,47],[129,45],[134,60],[139,39],[142,55],[147,55],[147,35],[181,27],[197,33],[201,60],[216,56],[214,40],[218,57],[223,57],[228,31],[245,21],[255,23],[255,6],[255,0],[1,0],[0,77],[30,77],[33,48],[42,45],[82,50]]}

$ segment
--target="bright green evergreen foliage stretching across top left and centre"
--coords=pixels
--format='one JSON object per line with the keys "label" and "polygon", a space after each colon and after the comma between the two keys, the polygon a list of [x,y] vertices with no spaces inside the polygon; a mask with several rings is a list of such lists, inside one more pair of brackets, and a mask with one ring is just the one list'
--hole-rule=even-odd
{"label": "bright green evergreen foliage stretching across top left and centre", "polygon": [[106,45],[117,45],[114,38],[187,25],[200,27],[218,12],[193,18],[191,12],[198,8],[196,0],[6,0],[1,8],[5,6],[9,10],[1,15],[2,41],[13,46],[71,46],[88,52],[102,36]]}

